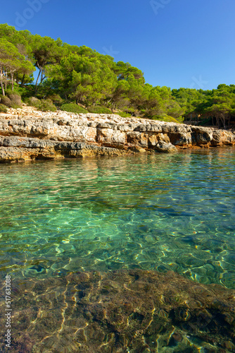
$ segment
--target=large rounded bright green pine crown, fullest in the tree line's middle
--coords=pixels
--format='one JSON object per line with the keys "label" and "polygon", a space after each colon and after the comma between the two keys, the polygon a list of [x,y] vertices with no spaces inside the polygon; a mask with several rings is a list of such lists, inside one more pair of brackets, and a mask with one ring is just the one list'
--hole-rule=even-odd
{"label": "large rounded bright green pine crown, fullest in the tree line's middle", "polygon": [[98,53],[89,57],[70,53],[60,64],[47,66],[46,75],[61,95],[89,106],[112,94],[117,78],[111,66],[113,61],[104,61]]}

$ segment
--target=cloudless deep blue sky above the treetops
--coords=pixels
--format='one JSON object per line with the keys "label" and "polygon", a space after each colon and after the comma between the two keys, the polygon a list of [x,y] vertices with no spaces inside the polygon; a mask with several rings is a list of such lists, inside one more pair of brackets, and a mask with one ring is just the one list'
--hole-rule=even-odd
{"label": "cloudless deep blue sky above the treetops", "polygon": [[235,0],[8,0],[0,23],[86,45],[170,88],[235,84]]}

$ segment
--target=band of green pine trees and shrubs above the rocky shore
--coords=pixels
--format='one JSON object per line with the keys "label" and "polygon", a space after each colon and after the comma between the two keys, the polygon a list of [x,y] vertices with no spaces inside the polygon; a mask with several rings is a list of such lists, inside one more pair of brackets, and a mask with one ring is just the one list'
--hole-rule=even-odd
{"label": "band of green pine trees and shrubs above the rocky shore", "polygon": [[129,63],[7,24],[0,25],[0,85],[1,111],[23,101],[43,111],[116,113],[222,128],[235,120],[235,85],[153,87]]}

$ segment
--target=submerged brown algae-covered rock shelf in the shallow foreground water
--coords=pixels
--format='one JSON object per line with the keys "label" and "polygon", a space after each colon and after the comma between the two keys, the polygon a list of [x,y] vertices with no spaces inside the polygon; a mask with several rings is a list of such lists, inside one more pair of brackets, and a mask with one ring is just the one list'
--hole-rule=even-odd
{"label": "submerged brown algae-covered rock shelf in the shallow foreground water", "polygon": [[12,276],[11,348],[1,296],[1,352],[235,352],[232,289],[139,269],[58,275]]}

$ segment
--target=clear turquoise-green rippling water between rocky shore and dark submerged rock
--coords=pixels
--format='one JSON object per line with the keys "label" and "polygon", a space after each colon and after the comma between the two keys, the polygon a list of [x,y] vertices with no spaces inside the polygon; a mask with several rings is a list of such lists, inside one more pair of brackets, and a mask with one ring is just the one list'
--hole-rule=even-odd
{"label": "clear turquoise-green rippling water between rocky shore and dark submerged rock", "polygon": [[234,172],[234,148],[1,164],[1,270],[174,270],[234,288]]}

